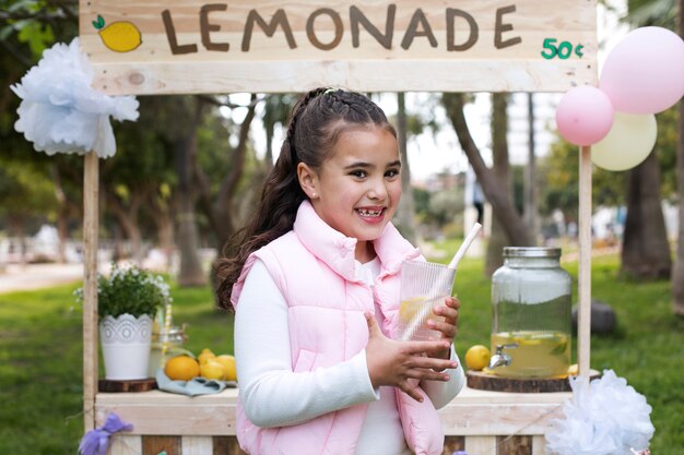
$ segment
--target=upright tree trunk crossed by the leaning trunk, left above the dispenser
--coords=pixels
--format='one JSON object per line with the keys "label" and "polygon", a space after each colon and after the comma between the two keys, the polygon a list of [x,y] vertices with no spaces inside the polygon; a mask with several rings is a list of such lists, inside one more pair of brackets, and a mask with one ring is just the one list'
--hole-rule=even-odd
{"label": "upright tree trunk crossed by the leaning trunk, left above the dispenser", "polygon": [[[508,164],[508,142],[506,135],[508,133],[508,95],[502,93],[492,94],[492,155],[493,166],[492,172],[496,176],[497,181],[508,189],[507,199],[512,204],[510,196],[510,166]],[[504,247],[509,246],[510,240],[502,221],[498,217],[492,219],[492,235],[487,244],[487,254],[485,258],[485,274],[492,276],[498,267],[504,264],[502,252]]]}

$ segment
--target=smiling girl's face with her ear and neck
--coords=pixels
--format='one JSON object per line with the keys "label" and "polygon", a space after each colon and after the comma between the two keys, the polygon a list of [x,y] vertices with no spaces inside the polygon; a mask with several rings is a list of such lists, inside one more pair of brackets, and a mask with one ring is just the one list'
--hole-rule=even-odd
{"label": "smiling girl's face with her ear and neck", "polygon": [[318,171],[298,165],[314,209],[332,228],[358,240],[361,262],[375,256],[368,241],[380,236],[397,211],[400,170],[397,139],[378,127],[342,133]]}

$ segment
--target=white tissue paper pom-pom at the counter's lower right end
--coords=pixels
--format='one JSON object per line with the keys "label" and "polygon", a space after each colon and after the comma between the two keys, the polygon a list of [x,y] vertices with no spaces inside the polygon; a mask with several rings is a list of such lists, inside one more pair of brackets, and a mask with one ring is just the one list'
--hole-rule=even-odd
{"label": "white tissue paper pom-pom at the counter's lower right end", "polygon": [[613,370],[587,384],[570,379],[573,399],[546,432],[546,451],[556,455],[633,455],[646,451],[654,428],[644,395]]}

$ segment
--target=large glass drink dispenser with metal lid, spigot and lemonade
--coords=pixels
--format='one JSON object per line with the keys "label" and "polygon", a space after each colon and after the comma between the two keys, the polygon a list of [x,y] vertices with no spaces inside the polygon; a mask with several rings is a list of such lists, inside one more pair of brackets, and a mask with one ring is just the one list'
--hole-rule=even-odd
{"label": "large glass drink dispenser with metal lid, spigot and lemonade", "polygon": [[570,276],[559,248],[504,248],[492,276],[493,374],[567,375],[570,364]]}

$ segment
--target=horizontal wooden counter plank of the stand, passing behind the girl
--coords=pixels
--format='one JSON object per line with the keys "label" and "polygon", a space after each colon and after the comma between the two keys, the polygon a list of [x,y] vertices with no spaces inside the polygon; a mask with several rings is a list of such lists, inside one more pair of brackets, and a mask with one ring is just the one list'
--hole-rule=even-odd
{"label": "horizontal wooden counter plank of the stand, passing behind the girl", "polygon": [[[511,394],[465,387],[440,409],[447,435],[544,434],[570,393]],[[116,412],[133,434],[235,435],[237,390],[188,397],[161,391],[99,393],[97,424]]]}

